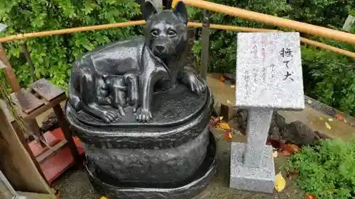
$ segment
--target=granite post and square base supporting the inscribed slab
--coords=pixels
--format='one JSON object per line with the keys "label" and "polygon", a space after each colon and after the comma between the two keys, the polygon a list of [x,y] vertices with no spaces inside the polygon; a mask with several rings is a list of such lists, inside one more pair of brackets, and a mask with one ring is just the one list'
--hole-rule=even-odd
{"label": "granite post and square base supporting the inscribed slab", "polygon": [[246,143],[231,143],[231,188],[273,193],[275,168],[272,147],[266,145],[273,110],[252,108],[248,113]]}

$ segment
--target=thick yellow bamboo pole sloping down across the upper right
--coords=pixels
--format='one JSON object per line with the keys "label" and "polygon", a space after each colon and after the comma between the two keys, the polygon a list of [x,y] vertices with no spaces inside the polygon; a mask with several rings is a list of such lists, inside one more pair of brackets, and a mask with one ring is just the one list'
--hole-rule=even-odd
{"label": "thick yellow bamboo pole sloping down across the upper right", "polygon": [[[179,0],[178,0],[179,1]],[[178,1],[173,1],[173,7]],[[339,30],[333,30],[330,28],[324,28],[317,25],[311,25],[308,23],[302,23],[299,21],[292,21],[285,18],[280,18],[276,16],[270,16],[263,13],[257,13],[253,11],[246,11],[241,8],[234,8],[231,6],[224,6],[221,4],[215,4],[209,1],[196,1],[196,0],[182,0],[185,4],[189,6],[194,6],[195,8],[201,8],[204,10],[214,11],[217,13],[224,13],[229,16],[236,16],[248,20],[260,21],[262,23],[277,25],[283,28],[290,28],[297,30],[302,33],[307,33],[309,35],[315,35],[322,38],[329,38],[332,40],[338,40],[341,42],[347,42],[349,44],[355,45],[355,35],[351,33],[345,33]]]}

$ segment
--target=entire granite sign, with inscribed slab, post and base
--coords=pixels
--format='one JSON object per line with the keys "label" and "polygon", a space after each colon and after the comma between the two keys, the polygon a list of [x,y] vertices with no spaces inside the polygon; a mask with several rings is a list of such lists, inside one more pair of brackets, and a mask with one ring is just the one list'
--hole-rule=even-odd
{"label": "entire granite sign, with inscribed slab, post and base", "polygon": [[236,106],[247,108],[247,142],[231,144],[230,187],[273,193],[273,110],[305,107],[299,33],[239,33]]}

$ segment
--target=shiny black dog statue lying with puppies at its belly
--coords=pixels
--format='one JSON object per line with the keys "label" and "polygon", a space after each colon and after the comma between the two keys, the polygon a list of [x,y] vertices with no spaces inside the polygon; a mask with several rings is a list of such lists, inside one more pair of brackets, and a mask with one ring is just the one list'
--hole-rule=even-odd
{"label": "shiny black dog statue lying with puppies at its belly", "polygon": [[187,10],[180,1],[174,10],[158,12],[150,1],[143,6],[144,37],[97,47],[75,61],[68,89],[69,103],[105,123],[134,107],[136,120],[151,120],[153,93],[172,89],[179,81],[201,94],[205,84],[185,69]]}

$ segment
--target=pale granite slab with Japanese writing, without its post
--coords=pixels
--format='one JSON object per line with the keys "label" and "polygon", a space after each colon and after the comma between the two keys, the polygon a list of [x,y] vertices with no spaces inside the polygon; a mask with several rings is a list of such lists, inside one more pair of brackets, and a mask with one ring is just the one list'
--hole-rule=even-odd
{"label": "pale granite slab with Japanese writing, without its post", "polygon": [[238,33],[236,106],[305,108],[299,33]]}

